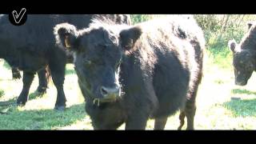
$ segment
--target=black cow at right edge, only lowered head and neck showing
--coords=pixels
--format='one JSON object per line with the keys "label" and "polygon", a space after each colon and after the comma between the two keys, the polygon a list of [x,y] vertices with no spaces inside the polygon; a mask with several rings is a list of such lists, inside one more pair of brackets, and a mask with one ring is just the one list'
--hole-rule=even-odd
{"label": "black cow at right edge, only lowered head and neck showing", "polygon": [[248,28],[239,44],[234,40],[228,44],[233,53],[235,84],[238,86],[245,86],[256,70],[256,23],[248,23]]}

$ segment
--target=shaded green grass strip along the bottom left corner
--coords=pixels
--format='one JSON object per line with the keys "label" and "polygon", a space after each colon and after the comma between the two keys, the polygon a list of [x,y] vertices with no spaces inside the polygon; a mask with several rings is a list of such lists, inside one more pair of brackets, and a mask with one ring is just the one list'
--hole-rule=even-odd
{"label": "shaded green grass strip along the bottom left corner", "polygon": [[85,104],[78,104],[57,110],[18,110],[9,106],[0,114],[0,130],[52,130],[70,126],[86,117]]}

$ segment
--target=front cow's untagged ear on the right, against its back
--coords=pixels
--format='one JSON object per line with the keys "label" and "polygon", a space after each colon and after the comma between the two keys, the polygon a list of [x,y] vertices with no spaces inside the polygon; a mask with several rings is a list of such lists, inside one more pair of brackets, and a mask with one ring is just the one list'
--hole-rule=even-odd
{"label": "front cow's untagged ear on the right, against its back", "polygon": [[132,49],[141,34],[142,29],[139,26],[133,26],[130,29],[122,30],[119,34],[122,48],[125,50]]}

